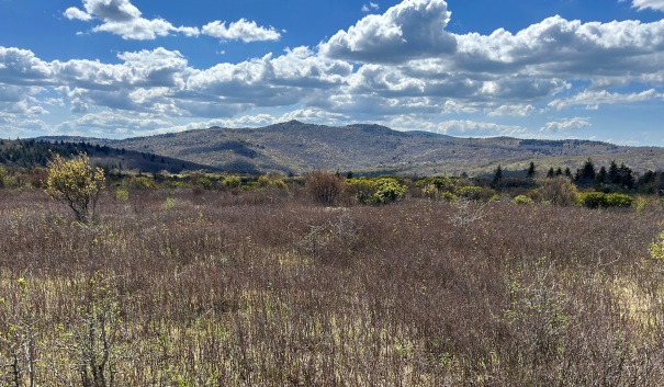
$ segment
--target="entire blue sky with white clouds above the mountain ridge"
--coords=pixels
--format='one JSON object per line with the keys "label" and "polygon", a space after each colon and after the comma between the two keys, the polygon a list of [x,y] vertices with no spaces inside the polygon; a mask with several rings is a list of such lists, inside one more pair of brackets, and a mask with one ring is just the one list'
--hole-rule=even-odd
{"label": "entire blue sky with white clouds above the mountain ridge", "polygon": [[0,0],[0,138],[297,119],[664,146],[664,0]]}

